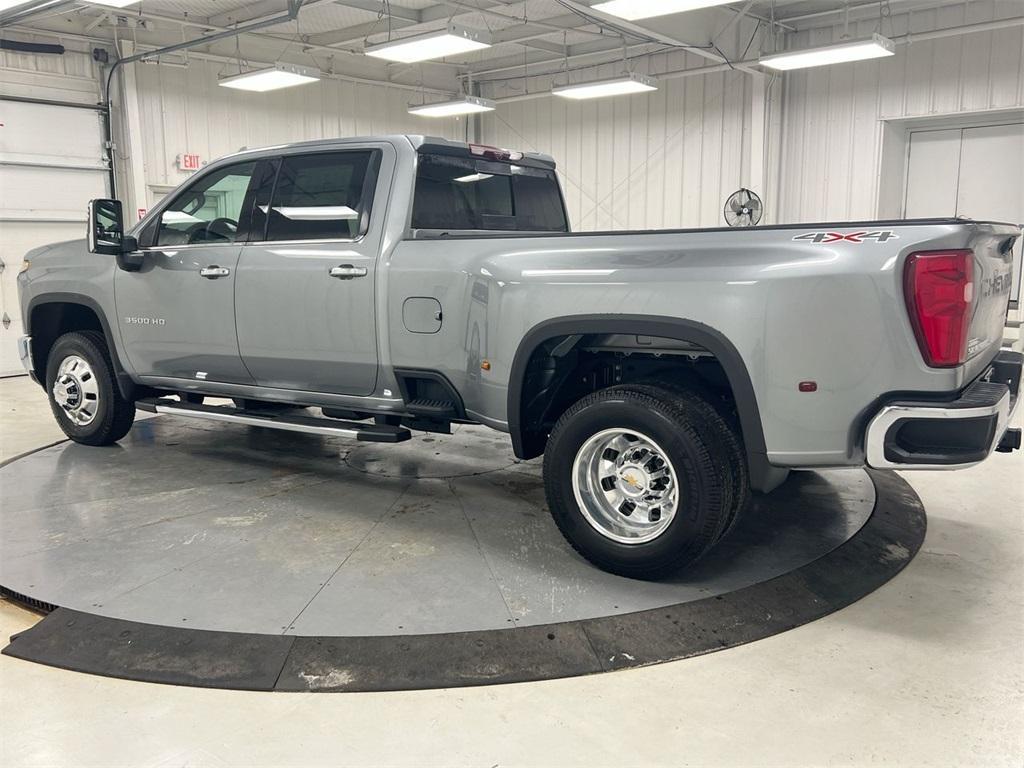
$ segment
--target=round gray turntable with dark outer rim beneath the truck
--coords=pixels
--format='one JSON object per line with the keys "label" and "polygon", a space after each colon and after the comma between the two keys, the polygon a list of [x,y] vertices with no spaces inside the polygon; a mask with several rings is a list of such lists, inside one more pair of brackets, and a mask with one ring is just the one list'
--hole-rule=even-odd
{"label": "round gray turntable with dark outer rim beneath the truck", "polygon": [[[695,567],[628,580],[563,542],[539,462],[474,427],[382,445],[163,417],[109,449],[30,454],[0,484],[0,585],[58,608],[4,652],[224,687],[465,685],[707,652],[848,604],[924,534],[895,475],[798,473]],[[200,646],[244,663],[206,669]]]}

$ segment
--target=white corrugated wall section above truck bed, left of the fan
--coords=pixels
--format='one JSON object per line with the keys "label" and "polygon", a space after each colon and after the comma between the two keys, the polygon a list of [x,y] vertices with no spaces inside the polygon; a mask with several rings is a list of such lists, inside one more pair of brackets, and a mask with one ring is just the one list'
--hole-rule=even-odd
{"label": "white corrugated wall section above truck bed, left of the fan", "polygon": [[513,101],[484,116],[481,140],[553,155],[577,230],[718,226],[748,183],[750,99],[749,75],[721,72],[636,96]]}

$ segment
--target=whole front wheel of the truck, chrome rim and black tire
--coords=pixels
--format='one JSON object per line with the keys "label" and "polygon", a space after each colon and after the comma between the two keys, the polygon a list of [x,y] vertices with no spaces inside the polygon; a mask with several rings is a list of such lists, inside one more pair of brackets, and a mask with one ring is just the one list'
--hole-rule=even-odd
{"label": "whole front wheel of the truck, chrome rim and black tire", "polygon": [[118,389],[106,341],[96,331],[68,333],[54,342],[46,393],[60,429],[76,442],[110,445],[135,421],[135,403]]}

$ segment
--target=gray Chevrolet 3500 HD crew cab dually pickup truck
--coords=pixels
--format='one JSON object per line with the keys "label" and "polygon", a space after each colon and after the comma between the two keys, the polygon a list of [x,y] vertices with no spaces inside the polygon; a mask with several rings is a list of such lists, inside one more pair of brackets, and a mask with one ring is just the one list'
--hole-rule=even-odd
{"label": "gray Chevrolet 3500 HD crew cab dually pickup truck", "polygon": [[1020,444],[1014,225],[572,233],[551,158],[425,136],[242,152],[127,232],[117,201],[89,211],[18,282],[23,360],[78,442],[136,409],[384,442],[483,424],[544,455],[569,543],[636,578],[791,469]]}

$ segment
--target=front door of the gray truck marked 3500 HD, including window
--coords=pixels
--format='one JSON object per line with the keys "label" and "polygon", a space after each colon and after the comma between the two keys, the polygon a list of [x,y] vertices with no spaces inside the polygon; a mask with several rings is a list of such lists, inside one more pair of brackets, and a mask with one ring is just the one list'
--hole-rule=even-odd
{"label": "front door of the gray truck marked 3500 HD, including window", "polygon": [[234,332],[234,282],[253,178],[264,165],[199,176],[140,233],[141,267],[117,270],[121,339],[139,376],[252,383]]}

